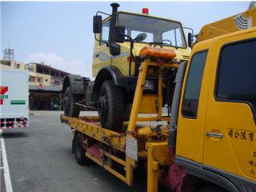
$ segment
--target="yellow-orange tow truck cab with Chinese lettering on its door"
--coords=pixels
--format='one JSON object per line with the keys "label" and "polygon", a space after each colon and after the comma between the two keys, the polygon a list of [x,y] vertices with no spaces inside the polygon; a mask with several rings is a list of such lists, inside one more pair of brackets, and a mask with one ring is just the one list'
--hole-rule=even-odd
{"label": "yellow-orange tow truck cab with Chinese lettering on its door", "polygon": [[193,47],[175,162],[228,191],[255,191],[256,28]]}

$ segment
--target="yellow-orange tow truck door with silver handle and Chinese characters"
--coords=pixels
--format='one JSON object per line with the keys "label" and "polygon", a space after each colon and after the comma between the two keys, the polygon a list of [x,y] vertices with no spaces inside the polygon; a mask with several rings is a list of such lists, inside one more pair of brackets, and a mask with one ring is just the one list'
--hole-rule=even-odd
{"label": "yellow-orange tow truck door with silver handle and Chinese characters", "polygon": [[256,179],[255,32],[218,41],[206,112],[204,164]]}

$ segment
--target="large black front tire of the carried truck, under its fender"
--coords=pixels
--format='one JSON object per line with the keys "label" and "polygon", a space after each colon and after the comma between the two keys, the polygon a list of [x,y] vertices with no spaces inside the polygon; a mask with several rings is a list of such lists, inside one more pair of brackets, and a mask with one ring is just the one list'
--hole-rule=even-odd
{"label": "large black front tire of the carried truck, under its fender", "polygon": [[98,115],[102,127],[108,130],[122,130],[126,115],[126,102],[122,88],[110,80],[102,83],[98,98]]}

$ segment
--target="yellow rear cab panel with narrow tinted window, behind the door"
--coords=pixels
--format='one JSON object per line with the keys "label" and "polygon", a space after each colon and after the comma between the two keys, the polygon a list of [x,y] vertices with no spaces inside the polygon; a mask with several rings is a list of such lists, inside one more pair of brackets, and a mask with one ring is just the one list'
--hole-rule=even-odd
{"label": "yellow rear cab panel with narrow tinted window, behind the door", "polygon": [[[208,50],[200,47],[193,50],[189,69],[186,72],[186,84],[183,87],[182,106],[178,115],[178,132],[176,154],[179,157],[202,162],[203,131],[206,115],[207,78],[205,66]],[[203,88],[202,87],[206,87]]]}

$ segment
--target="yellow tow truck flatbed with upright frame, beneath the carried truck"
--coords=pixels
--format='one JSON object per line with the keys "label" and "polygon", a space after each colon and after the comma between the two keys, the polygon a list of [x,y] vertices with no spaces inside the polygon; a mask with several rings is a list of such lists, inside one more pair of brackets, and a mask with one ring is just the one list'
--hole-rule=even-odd
{"label": "yellow tow truck flatbed with upright frame, beneath the carried truck", "polygon": [[[159,69],[158,94],[143,92],[148,66]],[[70,118],[61,115],[61,121],[74,131],[73,152],[78,146],[75,138],[82,138],[82,151],[86,158],[104,167],[129,186],[133,185],[134,168],[140,164],[146,165],[147,189],[157,191],[160,166],[168,167],[171,162],[168,152],[170,116],[162,115],[162,70],[177,67],[178,64],[174,62],[151,62],[150,59],[142,62],[130,119],[120,131],[103,128],[98,116]],[[148,123],[145,125],[145,122]],[[153,123],[154,127],[150,127],[149,123]],[[76,137],[77,134],[81,137]]]}

